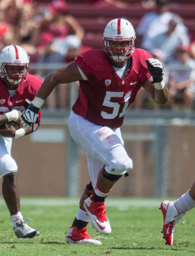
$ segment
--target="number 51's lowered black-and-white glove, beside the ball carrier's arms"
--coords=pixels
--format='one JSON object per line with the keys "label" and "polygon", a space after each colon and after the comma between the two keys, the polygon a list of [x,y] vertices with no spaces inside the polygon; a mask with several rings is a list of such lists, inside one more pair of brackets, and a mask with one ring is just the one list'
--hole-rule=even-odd
{"label": "number 51's lowered black-and-white glove, beside the ball carrier's arms", "polygon": [[21,116],[21,123],[23,127],[28,129],[32,125],[33,131],[35,131],[39,122],[38,112],[39,108],[35,107],[33,104],[30,104]]}

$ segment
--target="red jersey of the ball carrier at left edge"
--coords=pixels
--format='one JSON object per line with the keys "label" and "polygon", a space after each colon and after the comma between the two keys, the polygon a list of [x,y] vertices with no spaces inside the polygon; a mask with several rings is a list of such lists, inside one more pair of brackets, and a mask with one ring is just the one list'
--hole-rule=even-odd
{"label": "red jersey of the ball carrier at left edge", "polygon": [[14,96],[10,98],[5,84],[0,79],[0,114],[7,113],[12,109],[23,111],[28,108],[29,104],[26,99],[32,101],[41,84],[42,80],[40,78],[28,74],[26,81],[17,87]]}

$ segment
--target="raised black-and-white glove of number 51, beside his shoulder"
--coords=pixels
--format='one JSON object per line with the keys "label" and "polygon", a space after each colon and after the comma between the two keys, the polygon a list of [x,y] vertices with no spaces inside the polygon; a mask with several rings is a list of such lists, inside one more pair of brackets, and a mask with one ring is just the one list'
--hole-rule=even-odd
{"label": "raised black-and-white glove of number 51, beside his shoulder", "polygon": [[153,82],[151,84],[163,81],[162,63],[158,59],[149,58],[146,59],[146,64],[151,76],[153,77]]}

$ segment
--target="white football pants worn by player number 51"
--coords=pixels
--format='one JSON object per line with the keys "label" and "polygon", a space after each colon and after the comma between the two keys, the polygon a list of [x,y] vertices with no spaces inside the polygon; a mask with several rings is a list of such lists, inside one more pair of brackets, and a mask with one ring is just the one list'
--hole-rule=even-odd
{"label": "white football pants worn by player number 51", "polygon": [[133,162],[124,149],[120,128],[113,130],[95,125],[73,111],[68,126],[73,140],[86,151],[93,188],[103,166],[113,175],[123,175],[133,168]]}

